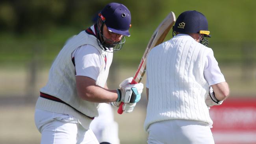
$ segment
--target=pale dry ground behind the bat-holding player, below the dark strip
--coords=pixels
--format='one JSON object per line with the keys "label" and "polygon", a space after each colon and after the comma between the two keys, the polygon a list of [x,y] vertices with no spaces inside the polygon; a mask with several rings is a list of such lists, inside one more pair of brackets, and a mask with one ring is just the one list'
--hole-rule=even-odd
{"label": "pale dry ground behind the bat-holding player, below the dark strip", "polygon": [[[34,124],[34,105],[0,106],[0,144],[39,144],[40,133]],[[119,115],[121,144],[146,144],[147,133],[143,131],[145,109],[136,107],[133,113]]]}

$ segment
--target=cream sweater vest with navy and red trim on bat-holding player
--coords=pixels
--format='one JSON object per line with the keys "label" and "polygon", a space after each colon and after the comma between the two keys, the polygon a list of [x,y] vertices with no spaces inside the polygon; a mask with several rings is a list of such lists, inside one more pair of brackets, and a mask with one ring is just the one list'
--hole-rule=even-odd
{"label": "cream sweater vest with navy and red trim on bat-holding player", "polygon": [[[40,90],[45,94],[55,96],[61,99],[62,101],[68,103],[81,113],[66,104],[41,97],[39,97],[39,99],[37,100],[36,109],[42,109],[55,113],[70,114],[76,117],[85,129],[89,129],[89,124],[92,121],[92,119],[90,119],[89,117],[98,116],[97,108],[99,103],[88,102],[82,100],[78,96],[76,91],[75,66],[72,63],[71,57],[71,53],[76,48],[85,44],[90,44],[94,46],[100,52],[102,56],[102,61],[104,61],[104,53],[106,52],[98,46],[96,37],[87,34],[85,31],[82,31],[81,33],[70,39],[59,52],[54,63],[52,64],[52,67],[50,68],[48,82],[46,86]],[[102,63],[102,66],[100,67],[100,74],[96,80],[96,84],[101,87],[104,87],[108,78],[108,72],[113,58],[113,53],[112,55],[108,54],[108,56],[109,63],[107,63],[106,69],[105,63]]]}

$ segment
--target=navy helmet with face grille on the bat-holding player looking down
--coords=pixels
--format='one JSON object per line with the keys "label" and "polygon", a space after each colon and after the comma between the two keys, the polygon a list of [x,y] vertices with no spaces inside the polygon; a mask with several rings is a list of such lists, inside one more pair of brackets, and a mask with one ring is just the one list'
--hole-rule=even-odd
{"label": "navy helmet with face grille on the bat-holding player looking down", "polygon": [[[121,50],[125,43],[124,36],[130,37],[129,28],[131,27],[131,19],[129,9],[123,4],[115,2],[107,4],[98,14],[97,38],[100,48],[105,51],[108,49],[112,49],[113,51]],[[100,23],[102,24],[99,25]],[[122,39],[119,42],[109,44],[107,41],[111,40],[106,39],[103,35],[104,24],[108,28],[108,31],[123,35]]]}

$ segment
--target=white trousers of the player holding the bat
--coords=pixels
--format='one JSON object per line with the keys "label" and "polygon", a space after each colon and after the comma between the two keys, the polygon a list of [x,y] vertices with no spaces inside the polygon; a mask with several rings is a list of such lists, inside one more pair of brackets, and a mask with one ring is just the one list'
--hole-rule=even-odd
{"label": "white trousers of the player holding the bat", "polygon": [[36,109],[35,125],[42,135],[41,144],[99,144],[93,131],[68,114]]}

